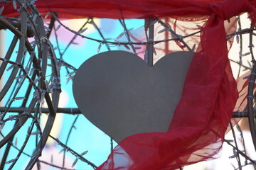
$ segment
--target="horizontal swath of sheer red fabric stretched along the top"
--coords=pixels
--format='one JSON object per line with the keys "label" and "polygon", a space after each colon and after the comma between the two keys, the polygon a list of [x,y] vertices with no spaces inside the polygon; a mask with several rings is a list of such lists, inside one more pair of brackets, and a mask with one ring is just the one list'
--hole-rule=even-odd
{"label": "horizontal swath of sheer red fabric stretched along the top", "polygon": [[[251,2],[251,1],[250,1]],[[2,3],[3,4],[3,3]],[[255,4],[252,1],[251,4]],[[0,3],[1,6],[1,3]],[[230,7],[231,6],[231,7]],[[225,19],[247,11],[248,0],[38,0],[36,7],[41,13],[55,11],[60,18],[92,16],[98,18],[152,18],[172,17],[186,21],[208,18],[217,13]],[[6,4],[2,15],[14,16],[17,11],[12,4]]]}

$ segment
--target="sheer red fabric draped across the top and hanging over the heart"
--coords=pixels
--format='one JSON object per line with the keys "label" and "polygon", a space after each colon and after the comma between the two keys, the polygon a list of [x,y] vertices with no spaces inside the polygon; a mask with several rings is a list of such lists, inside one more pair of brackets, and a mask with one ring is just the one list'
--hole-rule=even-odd
{"label": "sheer red fabric draped across the top and hanging over the heart", "polygon": [[[177,169],[211,158],[219,151],[238,98],[226,40],[235,23],[225,29],[224,21],[248,12],[255,23],[256,1],[38,0],[36,6],[41,13],[56,11],[60,18],[168,16],[180,21],[205,22],[168,132],[125,138],[97,169]],[[15,16],[16,11],[7,4],[2,15]]]}

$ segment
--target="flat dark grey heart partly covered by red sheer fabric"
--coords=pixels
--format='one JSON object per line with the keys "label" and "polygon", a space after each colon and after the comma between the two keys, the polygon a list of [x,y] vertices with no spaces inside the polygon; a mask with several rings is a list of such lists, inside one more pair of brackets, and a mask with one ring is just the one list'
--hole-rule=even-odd
{"label": "flat dark grey heart partly covered by red sheer fabric", "polygon": [[153,67],[130,52],[102,52],[85,61],[73,94],[91,123],[120,142],[142,132],[166,132],[193,52],[174,52]]}

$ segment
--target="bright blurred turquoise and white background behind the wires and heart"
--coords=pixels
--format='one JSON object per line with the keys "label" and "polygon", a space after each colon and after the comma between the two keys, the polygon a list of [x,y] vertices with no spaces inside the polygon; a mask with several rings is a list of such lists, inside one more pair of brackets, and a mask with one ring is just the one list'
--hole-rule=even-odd
{"label": "bright blurred turquoise and white background behind the wires and heart", "polygon": [[[127,36],[125,35],[124,27],[118,20],[113,19],[105,19],[105,18],[91,18],[90,23],[88,22],[89,18],[81,18],[81,19],[72,19],[72,20],[63,20],[61,21],[65,26],[67,26],[71,30],[75,30],[79,32],[79,30],[85,30],[82,35],[85,35],[90,38],[95,38],[97,40],[112,40],[117,42],[125,42],[127,41]],[[165,22],[169,21],[168,18],[164,18]],[[250,28],[250,21],[247,19],[247,14],[243,14],[239,18],[240,25],[238,25],[238,30],[242,30],[245,28]],[[46,27],[50,23],[50,20],[46,18]],[[83,26],[87,23],[85,26]],[[129,30],[129,35],[132,38],[132,41],[142,42],[146,41],[146,36],[144,33],[144,20],[125,20],[127,29]],[[200,24],[200,23],[198,23]],[[71,33],[70,30],[67,30],[65,27],[60,26],[60,23],[55,22],[54,31],[50,34],[50,42],[53,45],[53,49],[55,53],[58,55],[58,59],[63,60],[63,62],[70,64],[75,69],[78,69],[80,65],[85,62],[88,58],[96,55],[98,52],[105,52],[109,49],[111,50],[126,50],[132,52],[132,47],[125,47],[119,45],[105,45],[99,42],[88,40],[87,38],[81,38],[80,36]],[[188,24],[188,27],[189,24]],[[161,32],[162,31],[162,32]],[[163,31],[163,28],[160,26],[155,27],[155,37],[156,39],[162,39],[166,36],[166,31]],[[171,36],[171,35],[168,35]],[[9,45],[11,45],[11,41],[14,38],[14,34],[11,33],[10,30],[1,30],[0,31],[0,57],[4,58]],[[33,39],[29,39],[30,42],[33,42]],[[178,47],[174,47],[173,44],[170,43],[170,50],[167,52],[176,51]],[[234,36],[233,47],[230,50],[230,62],[233,67],[233,74],[235,78],[240,77],[242,74],[250,70],[252,67],[250,65],[250,56],[244,55],[247,52],[249,46],[249,35],[248,34],[238,34]],[[155,46],[155,54],[154,54],[154,62],[159,60],[166,54],[166,51],[163,50],[164,47],[161,45]],[[180,49],[181,50],[181,49]],[[18,51],[18,45],[16,45],[14,51]],[[145,47],[141,45],[138,48],[137,54],[139,57],[144,58]],[[15,52],[11,56],[10,60],[15,59]],[[9,65],[11,67],[11,65]],[[50,66],[49,66],[50,67]],[[4,79],[1,79],[1,84],[5,84],[10,71],[6,71],[4,73]],[[46,73],[46,75],[50,75],[50,72]],[[73,98],[72,91],[72,79],[74,73],[68,71],[65,67],[61,67],[60,69],[60,81],[62,92],[60,94],[60,108],[78,108]],[[6,96],[12,96],[16,86],[15,84],[11,86],[8,94]],[[23,96],[24,91],[21,87],[21,92],[19,92],[18,96]],[[6,97],[1,102],[1,106],[7,106],[9,103],[9,98]],[[21,101],[16,101],[12,103],[12,107],[21,106]],[[44,107],[44,106],[43,106]],[[45,106],[47,107],[47,106]],[[8,113],[12,114],[12,113]],[[40,125],[41,128],[44,128],[47,120],[46,114],[41,114]],[[256,154],[255,149],[252,145],[252,140],[250,137],[250,130],[247,125],[246,118],[243,118],[240,121],[240,128],[234,128],[235,130],[235,139],[238,141],[238,146],[245,152],[248,157],[255,160]],[[1,130],[2,135],[8,134],[11,128],[14,126],[14,121],[9,121],[5,124],[4,128]],[[14,137],[13,145],[17,148],[21,148],[23,145],[24,138],[26,137],[27,130],[30,127],[30,122],[27,122],[21,130]],[[13,169],[24,169],[26,164],[30,159],[29,155],[33,153],[33,149],[35,149],[36,144],[36,135],[35,137],[31,137],[28,140],[28,145],[26,145],[24,149],[24,153],[21,154],[21,157],[18,159],[17,164],[15,164]],[[95,125],[92,125],[90,121],[88,121],[84,115],[80,114],[64,114],[58,113],[55,118],[55,123],[53,125],[53,129],[50,132],[55,138],[58,138],[61,142],[63,142],[66,146],[72,148],[78,154],[82,154],[87,160],[95,164],[96,166],[100,166],[102,162],[105,162],[108,155],[111,152],[112,147],[116,146],[117,143],[113,142],[104,132],[99,130]],[[234,140],[234,136],[232,132],[229,132],[226,135],[226,140]],[[0,160],[4,155],[4,150],[6,146],[0,149]],[[15,147],[11,147],[9,155],[6,159],[6,164],[4,169],[9,169],[11,165],[12,159],[15,159],[16,154],[18,154],[18,149]],[[58,145],[58,142],[55,140],[48,139],[46,143],[45,149],[43,149],[42,156],[39,158],[41,160],[41,169],[93,169],[92,166],[88,165],[86,162],[82,162],[78,157],[70,152],[66,152],[67,149],[63,149],[62,146]],[[64,154],[65,153],[65,154]],[[229,170],[229,169],[239,169],[238,164],[238,156],[234,154],[233,147],[230,147],[228,144],[224,143],[223,150],[216,155],[219,159],[215,159],[208,162],[202,162],[198,164],[194,164],[191,166],[185,166],[184,169],[191,170]],[[248,164],[246,166],[240,167],[240,169],[255,169],[255,166],[250,165],[247,159],[240,157],[240,162],[242,165]],[[55,165],[55,166],[54,166]],[[33,169],[38,169],[38,166],[35,166]]]}

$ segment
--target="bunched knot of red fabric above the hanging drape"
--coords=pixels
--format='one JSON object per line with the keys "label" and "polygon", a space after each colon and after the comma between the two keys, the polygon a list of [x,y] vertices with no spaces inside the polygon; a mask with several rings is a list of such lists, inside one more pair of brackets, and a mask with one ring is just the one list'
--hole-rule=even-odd
{"label": "bunched knot of red fabric above the hanging drape", "polygon": [[246,12],[248,7],[248,0],[226,0],[210,4],[210,9],[213,13],[223,21]]}

